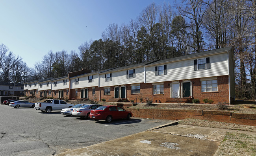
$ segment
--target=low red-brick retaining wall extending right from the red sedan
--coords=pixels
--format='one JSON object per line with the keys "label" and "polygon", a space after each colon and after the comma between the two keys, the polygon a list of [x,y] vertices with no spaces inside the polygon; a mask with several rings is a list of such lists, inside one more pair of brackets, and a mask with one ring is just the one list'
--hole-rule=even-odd
{"label": "low red-brick retaining wall extending right from the red sedan", "polygon": [[130,110],[134,117],[180,120],[186,118],[236,123],[256,126],[256,114],[238,114],[209,110],[168,110],[168,109],[134,109]]}

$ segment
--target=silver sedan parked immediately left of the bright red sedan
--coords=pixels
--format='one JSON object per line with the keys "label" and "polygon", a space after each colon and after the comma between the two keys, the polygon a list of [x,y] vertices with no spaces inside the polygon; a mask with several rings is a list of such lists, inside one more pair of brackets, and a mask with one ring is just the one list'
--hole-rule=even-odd
{"label": "silver sedan parked immediately left of the bright red sedan", "polygon": [[93,105],[93,104],[86,104],[79,108],[74,108],[72,112],[72,116],[79,116],[79,117],[86,117],[87,119],[90,118],[91,110],[95,110],[100,105]]}

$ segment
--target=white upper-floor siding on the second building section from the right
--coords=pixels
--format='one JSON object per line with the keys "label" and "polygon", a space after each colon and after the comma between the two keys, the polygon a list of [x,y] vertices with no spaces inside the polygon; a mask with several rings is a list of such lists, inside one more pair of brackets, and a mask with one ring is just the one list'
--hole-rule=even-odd
{"label": "white upper-floor siding on the second building section from the right", "polygon": [[[129,69],[132,70],[132,69]],[[105,73],[100,74],[100,87],[125,85],[134,83],[144,83],[144,67],[135,68],[136,76],[127,79],[127,70],[121,70],[112,73],[112,81],[105,81]]]}

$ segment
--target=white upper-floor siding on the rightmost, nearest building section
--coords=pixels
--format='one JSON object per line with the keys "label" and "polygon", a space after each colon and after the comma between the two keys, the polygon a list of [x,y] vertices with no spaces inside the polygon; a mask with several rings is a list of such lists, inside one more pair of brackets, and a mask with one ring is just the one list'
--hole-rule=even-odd
{"label": "white upper-floor siding on the rightmost, nearest building section", "polygon": [[[228,75],[228,53],[211,55],[209,57],[211,68],[205,70],[194,70],[195,58],[167,63],[167,75],[162,76],[155,76],[155,66],[146,66],[146,83]],[[206,57],[197,59],[203,58]]]}

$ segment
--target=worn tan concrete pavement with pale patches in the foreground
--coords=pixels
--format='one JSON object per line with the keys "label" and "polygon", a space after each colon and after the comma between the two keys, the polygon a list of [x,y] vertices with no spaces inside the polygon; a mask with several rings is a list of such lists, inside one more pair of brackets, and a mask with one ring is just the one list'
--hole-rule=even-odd
{"label": "worn tan concrete pavement with pale patches in the foreground", "polygon": [[[98,143],[81,149],[69,150],[57,156],[212,156],[226,132],[220,128],[176,125],[178,121],[151,128],[130,136]],[[245,132],[243,133],[254,133]],[[255,134],[255,133],[254,133]]]}

